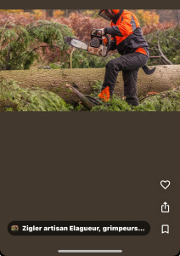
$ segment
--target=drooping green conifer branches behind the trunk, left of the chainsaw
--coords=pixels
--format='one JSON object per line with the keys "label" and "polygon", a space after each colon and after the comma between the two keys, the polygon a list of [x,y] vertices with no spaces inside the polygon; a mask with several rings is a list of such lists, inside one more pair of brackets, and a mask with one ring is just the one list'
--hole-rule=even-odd
{"label": "drooping green conifer branches behind the trunk, left of the chainsaw", "polygon": [[39,51],[46,48],[58,49],[65,57],[68,46],[65,36],[73,36],[72,30],[63,24],[48,20],[38,20],[27,26],[0,27],[0,69],[28,69]]}

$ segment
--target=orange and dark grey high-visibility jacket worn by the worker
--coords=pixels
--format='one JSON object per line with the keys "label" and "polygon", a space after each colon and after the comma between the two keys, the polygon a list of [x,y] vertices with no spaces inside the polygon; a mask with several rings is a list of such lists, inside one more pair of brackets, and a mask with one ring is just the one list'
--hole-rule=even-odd
{"label": "orange and dark grey high-visibility jacket worn by the worker", "polygon": [[149,57],[149,44],[143,38],[138,19],[132,12],[121,9],[110,27],[104,28],[104,33],[112,37],[110,50],[117,49],[121,55],[140,52]]}

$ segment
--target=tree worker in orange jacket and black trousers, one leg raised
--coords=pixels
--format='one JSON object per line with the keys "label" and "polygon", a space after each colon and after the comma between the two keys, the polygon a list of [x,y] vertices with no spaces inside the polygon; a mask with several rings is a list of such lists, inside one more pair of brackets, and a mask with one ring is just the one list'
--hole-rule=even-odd
{"label": "tree worker in orange jacket and black trousers, one leg raised", "polygon": [[102,30],[110,34],[110,50],[117,49],[121,56],[106,65],[104,84],[99,98],[107,102],[113,95],[119,71],[124,81],[124,96],[132,106],[138,106],[137,79],[138,69],[144,67],[149,60],[149,44],[143,38],[137,17],[126,9],[100,9],[98,15],[110,21],[110,27]]}

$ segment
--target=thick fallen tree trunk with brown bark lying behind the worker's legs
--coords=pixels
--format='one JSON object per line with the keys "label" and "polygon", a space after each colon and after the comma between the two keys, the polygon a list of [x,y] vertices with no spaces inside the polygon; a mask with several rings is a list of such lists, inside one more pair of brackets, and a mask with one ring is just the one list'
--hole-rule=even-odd
{"label": "thick fallen tree trunk with brown bark lying behind the worker's legs", "polygon": [[[51,90],[65,102],[76,102],[77,97],[66,84],[74,86],[83,94],[93,92],[96,81],[104,80],[104,68],[91,69],[51,69],[0,71],[0,81],[14,79],[22,87],[39,87]],[[140,69],[138,73],[138,96],[149,91],[165,91],[180,86],[180,65],[158,66],[155,73],[148,76]],[[119,73],[115,94],[123,96],[122,74]]]}

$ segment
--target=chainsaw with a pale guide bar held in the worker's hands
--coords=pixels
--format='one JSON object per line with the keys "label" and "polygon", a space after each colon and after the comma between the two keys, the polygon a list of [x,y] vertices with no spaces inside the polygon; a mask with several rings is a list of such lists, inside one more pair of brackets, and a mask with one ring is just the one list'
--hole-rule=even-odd
{"label": "chainsaw with a pale guide bar held in the worker's hands", "polygon": [[93,29],[91,31],[91,41],[89,44],[76,38],[65,37],[65,43],[78,49],[87,50],[88,53],[98,56],[107,56],[110,49],[110,38],[103,36],[102,30]]}

